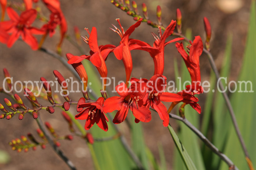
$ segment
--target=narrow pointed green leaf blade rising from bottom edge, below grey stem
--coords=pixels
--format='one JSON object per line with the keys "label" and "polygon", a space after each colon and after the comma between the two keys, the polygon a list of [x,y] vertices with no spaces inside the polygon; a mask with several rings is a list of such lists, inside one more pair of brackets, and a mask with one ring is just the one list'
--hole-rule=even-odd
{"label": "narrow pointed green leaf blade rising from bottom edge, below grey stem", "polygon": [[168,129],[172,135],[173,141],[176,145],[176,148],[178,149],[182,160],[184,161],[186,167],[188,170],[196,170],[196,167],[193,163],[193,161],[191,160],[190,156],[188,155],[187,150],[185,149],[185,147],[182,145],[180,139],[178,138],[178,136],[176,135],[176,133],[174,132],[172,126],[168,125]]}

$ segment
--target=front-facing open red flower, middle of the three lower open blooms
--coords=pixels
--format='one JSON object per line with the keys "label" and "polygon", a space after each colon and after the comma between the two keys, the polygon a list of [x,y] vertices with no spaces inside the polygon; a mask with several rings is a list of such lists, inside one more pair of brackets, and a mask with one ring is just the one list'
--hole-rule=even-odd
{"label": "front-facing open red flower, middle of the three lower open blooms", "polygon": [[132,83],[129,88],[124,82],[118,84],[116,91],[120,97],[114,96],[106,99],[103,106],[104,112],[111,113],[114,110],[118,110],[113,119],[114,124],[123,122],[129,109],[136,118],[135,122],[149,122],[151,120],[150,110],[143,106],[143,98],[146,94],[146,83],[143,80]]}

